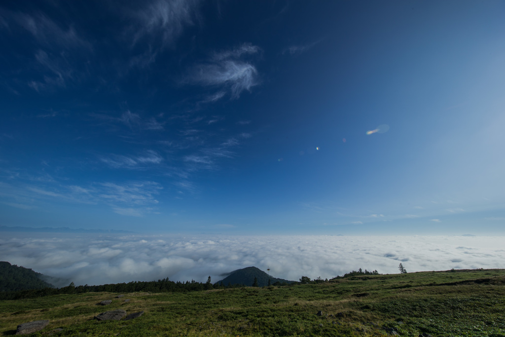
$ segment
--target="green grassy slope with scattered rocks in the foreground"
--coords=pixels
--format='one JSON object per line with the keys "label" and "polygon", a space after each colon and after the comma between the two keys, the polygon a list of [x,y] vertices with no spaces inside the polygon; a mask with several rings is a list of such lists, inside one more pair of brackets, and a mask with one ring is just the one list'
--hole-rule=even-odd
{"label": "green grassy slope with scattered rocks in the foreground", "polygon": [[[193,293],[87,293],[0,302],[0,335],[48,319],[55,336],[401,336],[505,337],[505,270],[355,276],[321,284]],[[125,298],[131,299],[124,303]],[[112,299],[109,306],[97,306]],[[93,320],[113,309],[130,321]],[[318,317],[318,310],[323,316]],[[340,313],[340,315],[338,315]],[[327,316],[328,315],[328,316]]]}

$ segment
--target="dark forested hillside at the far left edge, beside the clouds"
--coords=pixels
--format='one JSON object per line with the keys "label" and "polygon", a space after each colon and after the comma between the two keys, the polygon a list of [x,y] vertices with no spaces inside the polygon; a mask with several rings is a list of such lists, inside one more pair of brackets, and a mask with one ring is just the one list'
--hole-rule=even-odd
{"label": "dark forested hillside at the far left edge, beside the clouds", "polygon": [[40,273],[34,272],[25,267],[11,265],[9,262],[0,262],[0,291],[12,292],[29,289],[42,289],[54,287],[40,277]]}

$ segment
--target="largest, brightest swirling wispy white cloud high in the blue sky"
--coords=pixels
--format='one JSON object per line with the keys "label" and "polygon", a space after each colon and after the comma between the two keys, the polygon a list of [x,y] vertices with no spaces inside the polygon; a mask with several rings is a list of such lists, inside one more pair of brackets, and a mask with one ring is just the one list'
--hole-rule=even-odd
{"label": "largest, brightest swirling wispy white cloud high in the blue sky", "polygon": [[214,53],[208,62],[194,66],[182,82],[219,87],[220,90],[217,93],[210,95],[209,102],[215,102],[224,97],[224,90],[230,93],[232,99],[237,99],[242,91],[250,91],[258,84],[256,67],[240,58],[257,54],[259,51],[258,46],[242,44],[232,50]]}

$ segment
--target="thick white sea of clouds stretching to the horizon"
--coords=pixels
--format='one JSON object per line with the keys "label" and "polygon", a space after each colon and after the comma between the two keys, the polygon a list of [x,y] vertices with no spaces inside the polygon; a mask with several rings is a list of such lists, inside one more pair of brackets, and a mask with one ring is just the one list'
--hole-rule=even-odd
{"label": "thick white sea of clouds stretching to the horizon", "polygon": [[274,277],[331,278],[358,268],[379,273],[505,268],[504,237],[217,236],[3,233],[0,260],[79,284],[218,281],[256,266]]}

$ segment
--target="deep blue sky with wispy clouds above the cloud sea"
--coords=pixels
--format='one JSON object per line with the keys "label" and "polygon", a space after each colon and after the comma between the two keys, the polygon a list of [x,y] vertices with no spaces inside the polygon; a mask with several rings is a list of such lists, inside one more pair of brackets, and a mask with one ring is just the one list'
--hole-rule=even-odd
{"label": "deep blue sky with wispy clouds above the cloud sea", "polygon": [[501,1],[4,2],[0,222],[503,233],[503,13]]}

